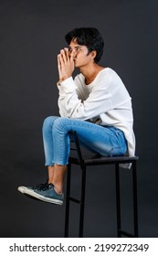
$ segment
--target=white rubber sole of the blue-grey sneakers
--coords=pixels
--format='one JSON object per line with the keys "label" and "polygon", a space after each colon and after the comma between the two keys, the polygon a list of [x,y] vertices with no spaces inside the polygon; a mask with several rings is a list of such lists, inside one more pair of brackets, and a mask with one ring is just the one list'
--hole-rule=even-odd
{"label": "white rubber sole of the blue-grey sneakers", "polygon": [[27,187],[18,187],[18,191],[20,191],[23,194],[29,195],[31,197],[36,197],[39,200],[42,200],[47,203],[56,204],[56,205],[62,205],[63,201],[50,198],[50,197],[44,197],[42,195],[37,194],[34,190],[28,189]]}

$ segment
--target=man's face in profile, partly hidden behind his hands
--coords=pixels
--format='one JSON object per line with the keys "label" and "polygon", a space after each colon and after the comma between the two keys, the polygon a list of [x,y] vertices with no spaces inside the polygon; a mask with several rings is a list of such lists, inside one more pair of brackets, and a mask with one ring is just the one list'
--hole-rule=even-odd
{"label": "man's face in profile, partly hidden behind his hands", "polygon": [[73,57],[76,68],[84,67],[91,61],[88,48],[80,46],[76,40],[72,40],[69,44],[69,55]]}

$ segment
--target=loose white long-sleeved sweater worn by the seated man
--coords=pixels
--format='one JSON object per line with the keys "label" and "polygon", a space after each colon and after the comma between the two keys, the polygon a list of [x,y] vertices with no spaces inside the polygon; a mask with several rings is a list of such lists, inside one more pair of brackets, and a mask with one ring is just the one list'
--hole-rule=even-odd
{"label": "loose white long-sleeved sweater worn by the seated man", "polygon": [[70,77],[62,81],[58,91],[62,117],[118,127],[127,140],[128,155],[134,155],[132,99],[114,70],[102,69],[89,85],[80,73],[75,80]]}

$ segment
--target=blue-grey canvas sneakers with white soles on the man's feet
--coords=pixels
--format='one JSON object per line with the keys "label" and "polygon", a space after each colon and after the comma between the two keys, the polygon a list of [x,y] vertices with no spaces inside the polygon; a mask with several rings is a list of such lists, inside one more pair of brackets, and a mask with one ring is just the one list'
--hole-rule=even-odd
{"label": "blue-grey canvas sneakers with white soles on the man's feet", "polygon": [[53,184],[40,184],[37,187],[18,187],[18,191],[29,197],[35,197],[47,203],[62,205],[64,200],[63,194],[58,194]]}

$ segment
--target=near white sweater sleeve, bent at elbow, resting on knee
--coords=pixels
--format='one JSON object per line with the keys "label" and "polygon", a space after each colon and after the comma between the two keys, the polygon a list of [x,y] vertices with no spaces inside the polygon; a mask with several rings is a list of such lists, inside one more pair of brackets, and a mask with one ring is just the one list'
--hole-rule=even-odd
{"label": "near white sweater sleeve, bent at elbow, resting on knee", "polygon": [[87,120],[111,110],[111,94],[104,80],[98,80],[86,101],[79,100],[77,88],[72,77],[58,86],[58,107],[62,117]]}

